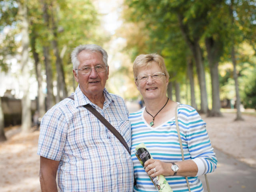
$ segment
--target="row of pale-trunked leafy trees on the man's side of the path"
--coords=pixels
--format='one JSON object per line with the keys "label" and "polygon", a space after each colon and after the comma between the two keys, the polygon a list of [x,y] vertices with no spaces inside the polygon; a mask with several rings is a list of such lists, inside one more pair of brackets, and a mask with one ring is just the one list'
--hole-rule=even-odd
{"label": "row of pale-trunked leafy trees on the man's side of the path", "polygon": [[[31,127],[29,78],[38,82],[39,116],[67,97],[75,86],[70,52],[79,44],[97,43],[102,38],[99,14],[90,0],[2,0],[0,2],[0,67],[8,71],[8,59],[16,58],[21,65],[22,131]],[[32,71],[29,66],[34,64]],[[68,72],[65,75],[65,72]],[[44,79],[46,77],[46,80]],[[46,81],[46,108],[42,83]],[[53,82],[57,94],[53,96]],[[1,102],[0,102],[0,109]],[[0,110],[0,140],[5,140],[3,113]]]}

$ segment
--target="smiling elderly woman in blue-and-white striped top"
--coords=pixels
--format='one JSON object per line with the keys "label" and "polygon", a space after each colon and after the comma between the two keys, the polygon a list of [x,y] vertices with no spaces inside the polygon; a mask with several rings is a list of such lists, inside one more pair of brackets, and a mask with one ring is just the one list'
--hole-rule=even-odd
{"label": "smiling elderly woman in blue-and-white striped top", "polygon": [[[134,191],[157,191],[148,177],[164,175],[174,192],[203,191],[198,176],[213,172],[217,159],[206,123],[191,106],[178,106],[178,124],[184,150],[184,161],[175,123],[178,104],[166,96],[169,75],[164,59],[158,54],[139,55],[133,66],[135,84],[142,94],[145,107],[129,116],[132,126],[132,160],[136,186]],[[144,168],[134,149],[144,143],[154,159],[147,160]]]}

